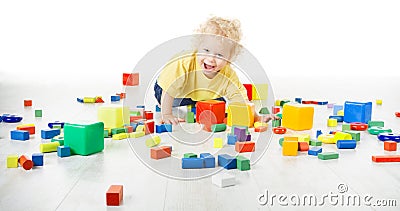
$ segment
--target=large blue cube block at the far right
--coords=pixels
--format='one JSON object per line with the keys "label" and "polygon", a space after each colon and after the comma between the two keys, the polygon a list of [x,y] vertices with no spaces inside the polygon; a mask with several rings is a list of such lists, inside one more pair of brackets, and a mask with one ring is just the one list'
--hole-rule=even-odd
{"label": "large blue cube block at the far right", "polygon": [[362,122],[368,124],[371,120],[372,114],[372,102],[359,103],[349,102],[344,103],[344,121],[351,122]]}

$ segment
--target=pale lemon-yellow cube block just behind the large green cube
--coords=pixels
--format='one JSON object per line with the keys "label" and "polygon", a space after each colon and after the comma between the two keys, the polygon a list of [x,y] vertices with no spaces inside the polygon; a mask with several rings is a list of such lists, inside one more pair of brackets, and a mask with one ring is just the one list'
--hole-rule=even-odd
{"label": "pale lemon-yellow cube block just behind the large green cube", "polygon": [[110,105],[97,109],[97,119],[105,128],[119,128],[129,124],[129,108],[127,106]]}

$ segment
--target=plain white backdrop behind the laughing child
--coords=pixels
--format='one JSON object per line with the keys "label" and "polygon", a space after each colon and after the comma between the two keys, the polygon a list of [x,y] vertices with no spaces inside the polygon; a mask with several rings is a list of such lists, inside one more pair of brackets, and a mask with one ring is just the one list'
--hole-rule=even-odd
{"label": "plain white backdrop behind the laughing child", "polygon": [[400,75],[395,0],[0,2],[3,84],[122,85],[146,52],[211,15],[241,21],[271,78]]}

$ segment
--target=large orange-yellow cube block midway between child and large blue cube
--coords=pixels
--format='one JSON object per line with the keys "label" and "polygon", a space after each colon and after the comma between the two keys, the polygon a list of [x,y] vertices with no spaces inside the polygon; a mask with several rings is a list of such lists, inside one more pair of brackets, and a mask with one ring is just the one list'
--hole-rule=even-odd
{"label": "large orange-yellow cube block midway between child and large blue cube", "polygon": [[292,130],[310,130],[313,127],[314,107],[302,104],[285,104],[282,126]]}

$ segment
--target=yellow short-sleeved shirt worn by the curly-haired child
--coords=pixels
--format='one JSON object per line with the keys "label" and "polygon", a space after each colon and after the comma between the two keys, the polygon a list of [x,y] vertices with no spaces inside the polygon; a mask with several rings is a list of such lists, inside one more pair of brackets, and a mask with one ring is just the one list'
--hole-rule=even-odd
{"label": "yellow short-sleeved shirt worn by the curly-haired child", "polygon": [[174,98],[202,101],[225,97],[230,102],[248,101],[246,88],[229,64],[209,79],[197,62],[196,52],[171,60],[162,69],[157,83]]}

